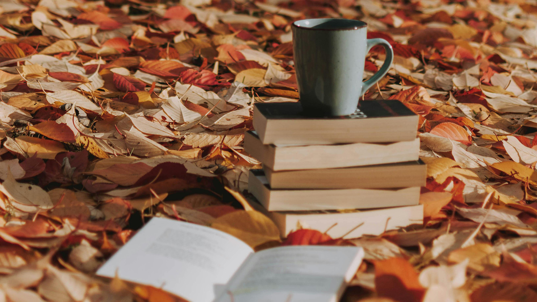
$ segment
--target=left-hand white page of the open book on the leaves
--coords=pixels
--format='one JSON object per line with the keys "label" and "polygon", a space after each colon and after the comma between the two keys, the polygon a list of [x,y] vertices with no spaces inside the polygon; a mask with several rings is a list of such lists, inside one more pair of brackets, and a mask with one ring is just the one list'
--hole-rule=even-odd
{"label": "left-hand white page of the open book on the leaves", "polygon": [[253,250],[213,228],[153,218],[97,275],[161,287],[191,302],[211,302]]}

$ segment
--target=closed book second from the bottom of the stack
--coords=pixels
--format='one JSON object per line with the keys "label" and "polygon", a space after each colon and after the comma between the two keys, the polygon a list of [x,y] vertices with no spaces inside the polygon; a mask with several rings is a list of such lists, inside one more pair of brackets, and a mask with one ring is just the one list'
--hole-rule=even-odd
{"label": "closed book second from the bottom of the stack", "polygon": [[248,191],[269,211],[345,210],[417,205],[419,186],[401,189],[273,190],[262,169],[250,170]]}

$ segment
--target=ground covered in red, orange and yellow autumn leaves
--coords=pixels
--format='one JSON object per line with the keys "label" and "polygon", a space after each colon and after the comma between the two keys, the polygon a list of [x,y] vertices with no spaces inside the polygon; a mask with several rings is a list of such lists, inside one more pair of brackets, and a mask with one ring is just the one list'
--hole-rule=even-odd
{"label": "ground covered in red, orange and yellow autumn leaves", "polygon": [[[0,12],[0,300],[179,300],[94,275],[156,215],[257,249],[363,246],[343,301],[537,300],[535,1],[0,0]],[[364,20],[393,45],[365,98],[421,116],[424,226],[281,242],[243,210],[259,166],[241,147],[252,103],[296,101],[290,24],[306,17]],[[383,59],[374,48],[366,76]]]}

